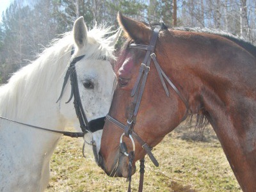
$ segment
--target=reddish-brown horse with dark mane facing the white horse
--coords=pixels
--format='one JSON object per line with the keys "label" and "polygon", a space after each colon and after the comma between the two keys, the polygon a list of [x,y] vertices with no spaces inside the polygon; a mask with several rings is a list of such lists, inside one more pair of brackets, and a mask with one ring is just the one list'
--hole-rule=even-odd
{"label": "reddish-brown horse with dark mane facing the white horse", "polygon": [[[143,90],[143,79],[138,76],[148,51],[134,48],[151,44],[154,32],[121,14],[118,22],[128,40],[116,66],[118,83],[109,111],[112,120],[106,120],[102,134],[99,155],[104,171],[111,176],[128,176],[129,161],[119,148],[122,129],[126,136],[135,132],[154,147],[188,115],[198,114],[212,125],[243,191],[256,191],[256,47],[234,36],[162,28],[151,51],[173,88],[164,90],[162,81],[166,79],[161,79],[159,68],[152,64]],[[138,95],[131,97],[134,84],[140,84],[136,88],[143,92],[138,114],[134,112],[134,97]],[[134,122],[129,127],[131,111]],[[124,136],[123,141],[131,151],[129,137]],[[146,154],[136,137],[134,142],[132,173],[135,161]]]}

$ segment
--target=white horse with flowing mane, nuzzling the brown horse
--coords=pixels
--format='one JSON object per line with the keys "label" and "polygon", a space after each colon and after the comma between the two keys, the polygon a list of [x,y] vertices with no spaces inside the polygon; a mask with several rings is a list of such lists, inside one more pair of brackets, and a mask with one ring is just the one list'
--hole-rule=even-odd
{"label": "white horse with flowing mane, nuzzling the brown horse", "polygon": [[[115,81],[106,58],[114,58],[120,31],[104,38],[110,33],[96,27],[88,31],[83,17],[77,19],[71,33],[52,43],[1,86],[0,116],[58,131],[71,123],[81,132],[72,100],[65,104],[70,83],[56,103],[70,58],[81,55],[85,56],[76,63],[77,82],[88,122],[106,116]],[[101,132],[95,134],[99,150]],[[49,182],[49,161],[61,136],[0,119],[0,191],[44,191]]]}

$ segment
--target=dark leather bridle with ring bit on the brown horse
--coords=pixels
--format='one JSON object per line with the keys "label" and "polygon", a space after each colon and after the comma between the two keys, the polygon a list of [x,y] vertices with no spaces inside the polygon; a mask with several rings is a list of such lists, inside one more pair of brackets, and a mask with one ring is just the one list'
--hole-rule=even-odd
{"label": "dark leather bridle with ring bit on the brown horse", "polygon": [[[169,91],[168,91],[168,88],[166,86],[164,79],[166,79],[167,83],[170,84],[170,86],[172,86],[173,90],[177,93],[177,95],[179,95],[182,102],[184,102],[184,104],[186,105],[186,108],[187,108],[187,113],[188,113],[188,109],[189,109],[188,102],[186,101],[186,99],[184,99],[182,94],[179,92],[179,90],[176,88],[176,86],[172,83],[172,81],[169,79],[169,77],[166,76],[166,74],[163,72],[162,68],[159,66],[159,63],[156,60],[156,54],[154,53],[154,51],[155,51],[155,47],[156,47],[157,37],[159,35],[160,30],[161,30],[160,28],[154,29],[149,45],[140,45],[140,44],[129,45],[129,48],[143,49],[143,50],[146,50],[147,53],[145,55],[143,62],[141,63],[140,71],[139,71],[136,83],[134,84],[134,87],[132,88],[131,97],[134,97],[134,99],[132,101],[131,108],[129,109],[127,124],[126,125],[122,124],[121,122],[119,122],[118,120],[116,120],[115,118],[113,118],[110,115],[106,116],[107,120],[109,120],[116,126],[120,127],[124,131],[125,136],[127,136],[129,138],[131,138],[131,137],[135,138],[138,141],[138,143],[140,143],[141,147],[145,149],[145,151],[147,152],[148,156],[150,157],[152,163],[154,163],[155,166],[159,166],[159,163],[157,162],[156,158],[154,157],[154,155],[151,152],[152,147],[150,147],[147,143],[145,143],[145,141],[143,141],[140,138],[140,136],[138,136],[138,134],[136,134],[136,132],[134,132],[134,130],[133,130],[134,125],[136,124],[136,116],[137,116],[138,110],[140,108],[141,98],[142,98],[145,84],[147,81],[148,72],[150,71],[151,59],[154,61],[154,64],[157,69],[157,73],[159,74],[159,77],[160,77],[161,83],[163,84],[163,88],[166,92],[166,95],[169,97],[170,94],[169,94]],[[131,141],[132,141],[132,144],[134,145],[134,141],[132,139],[131,139]],[[123,147],[124,145],[125,144],[121,143],[120,148],[124,148]],[[124,150],[121,149],[120,151],[124,151]],[[128,156],[129,157],[128,178],[127,178],[129,180],[128,191],[131,191],[131,163],[134,159],[134,152],[135,151],[132,150]],[[141,163],[141,165],[140,165],[141,175],[140,175],[139,191],[142,191],[143,173],[144,173],[144,158],[140,160],[140,163]]]}

